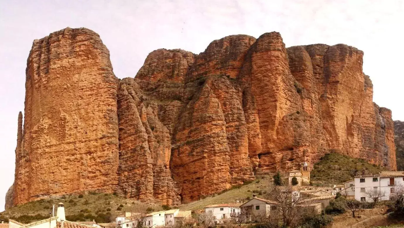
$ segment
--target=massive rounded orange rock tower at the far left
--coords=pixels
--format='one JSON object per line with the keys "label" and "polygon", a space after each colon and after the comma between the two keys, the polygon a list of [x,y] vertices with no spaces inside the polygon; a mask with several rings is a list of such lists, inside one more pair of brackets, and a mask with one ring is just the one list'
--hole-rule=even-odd
{"label": "massive rounded orange rock tower at the far left", "polygon": [[34,40],[27,60],[14,204],[44,194],[114,191],[117,83],[109,51],[97,33],[66,28]]}

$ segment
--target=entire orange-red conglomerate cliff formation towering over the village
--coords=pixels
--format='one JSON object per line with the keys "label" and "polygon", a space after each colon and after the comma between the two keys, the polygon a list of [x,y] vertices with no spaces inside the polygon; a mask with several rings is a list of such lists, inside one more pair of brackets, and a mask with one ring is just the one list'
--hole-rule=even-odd
{"label": "entire orange-red conglomerate cliff formation towering over the village", "polygon": [[10,199],[99,190],[177,205],[328,152],[394,170],[391,111],[372,102],[362,60],[271,32],[159,49],[120,80],[96,33],[51,33],[28,57]]}

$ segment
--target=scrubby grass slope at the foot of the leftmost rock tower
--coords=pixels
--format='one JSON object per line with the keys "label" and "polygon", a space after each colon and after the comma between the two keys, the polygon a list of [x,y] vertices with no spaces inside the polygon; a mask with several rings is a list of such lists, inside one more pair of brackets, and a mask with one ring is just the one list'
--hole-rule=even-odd
{"label": "scrubby grass slope at the foot of the leftmost rock tower", "polygon": [[0,213],[2,220],[16,220],[24,224],[49,218],[52,205],[55,204],[55,214],[57,204],[65,204],[66,220],[69,221],[93,221],[99,223],[111,222],[117,215],[124,214],[125,211],[162,210],[161,205],[140,203],[133,199],[126,199],[117,194],[90,192],[84,195],[65,195],[61,199],[41,199],[23,205],[18,205]]}

